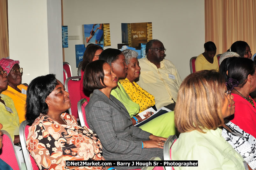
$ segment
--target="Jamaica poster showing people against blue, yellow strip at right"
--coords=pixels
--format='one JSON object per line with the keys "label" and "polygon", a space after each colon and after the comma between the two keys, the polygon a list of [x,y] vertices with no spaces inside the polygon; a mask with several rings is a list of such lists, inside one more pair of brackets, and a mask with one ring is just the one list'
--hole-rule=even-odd
{"label": "Jamaica poster showing people against blue, yellow strip at right", "polygon": [[104,44],[111,46],[110,25],[108,24],[85,24],[83,27],[83,37],[85,47],[88,44]]}

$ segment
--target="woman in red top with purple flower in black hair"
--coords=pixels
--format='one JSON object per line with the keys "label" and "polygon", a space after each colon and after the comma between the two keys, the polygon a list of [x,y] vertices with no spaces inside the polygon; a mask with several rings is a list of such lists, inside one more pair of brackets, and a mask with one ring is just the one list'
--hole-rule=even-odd
{"label": "woman in red top with purple flower in black hair", "polygon": [[[226,86],[231,90],[236,105],[234,117],[229,119],[245,132],[256,137],[256,104],[249,96],[256,90],[256,65],[247,58],[232,58],[223,60],[220,66],[227,68],[227,74],[224,74]],[[225,69],[222,73],[225,73]]]}

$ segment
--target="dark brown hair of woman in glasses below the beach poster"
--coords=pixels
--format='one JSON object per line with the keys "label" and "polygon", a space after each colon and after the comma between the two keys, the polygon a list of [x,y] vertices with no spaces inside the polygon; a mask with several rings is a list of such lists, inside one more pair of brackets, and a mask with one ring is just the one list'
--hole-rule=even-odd
{"label": "dark brown hair of woman in glasses below the beach poster", "polygon": [[[95,44],[89,44],[86,47],[86,50],[83,54],[83,60],[82,60],[82,71],[84,71],[85,67],[87,66],[88,63],[92,62],[94,55],[97,50],[102,49],[101,46],[95,45]],[[102,49],[103,50],[103,49]]]}

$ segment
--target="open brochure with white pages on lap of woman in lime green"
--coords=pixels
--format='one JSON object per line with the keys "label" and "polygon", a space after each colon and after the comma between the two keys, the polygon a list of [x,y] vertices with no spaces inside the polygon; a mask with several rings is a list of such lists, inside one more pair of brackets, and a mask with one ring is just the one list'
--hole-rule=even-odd
{"label": "open brochure with white pages on lap of woman in lime green", "polygon": [[[139,122],[138,124],[136,124],[136,125],[134,125],[134,126],[139,127],[139,126],[141,126],[141,125],[143,125],[143,124],[145,124],[145,123],[151,121],[152,119],[154,119],[154,118],[156,118],[156,117],[158,117],[158,116],[160,116],[160,115],[162,115],[162,114],[165,114],[165,113],[167,113],[167,112],[170,112],[170,111],[172,111],[172,110],[167,109],[167,108],[165,108],[165,107],[161,107],[161,108],[158,109],[157,111],[155,111],[153,108],[148,108],[147,110],[144,110],[143,112],[140,112],[138,115],[139,115],[142,119],[144,119],[145,117],[144,117],[143,115],[145,115],[146,112],[150,112],[150,111],[154,112],[151,117],[147,118],[146,120],[143,120],[142,122]],[[142,116],[141,116],[141,115],[142,115]]]}

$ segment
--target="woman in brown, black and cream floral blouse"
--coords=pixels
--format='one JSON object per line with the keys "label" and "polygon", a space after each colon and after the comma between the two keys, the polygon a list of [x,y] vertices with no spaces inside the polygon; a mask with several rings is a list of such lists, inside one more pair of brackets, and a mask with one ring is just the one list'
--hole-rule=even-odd
{"label": "woman in brown, black and cream floral blouse", "polygon": [[[29,128],[27,149],[39,169],[75,169],[66,160],[104,160],[97,135],[63,113],[71,107],[69,94],[53,74],[31,81],[27,90],[26,119]],[[80,167],[81,168],[81,167]],[[85,169],[105,169],[91,166]]]}

